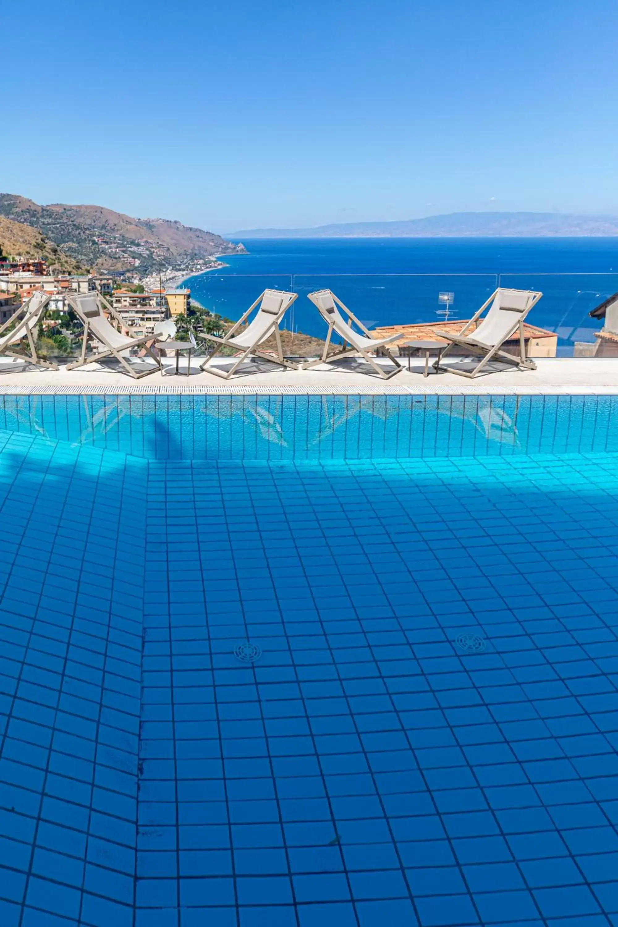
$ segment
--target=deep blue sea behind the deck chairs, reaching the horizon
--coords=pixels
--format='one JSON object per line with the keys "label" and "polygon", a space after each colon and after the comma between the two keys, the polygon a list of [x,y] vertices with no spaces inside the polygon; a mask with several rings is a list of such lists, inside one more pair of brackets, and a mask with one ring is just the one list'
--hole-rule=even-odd
{"label": "deep blue sea behind the deck chairs, reaching the horizon", "polygon": [[450,318],[468,319],[499,286],[541,290],[528,318],[558,333],[558,352],[594,341],[588,312],[618,290],[618,238],[244,239],[216,273],[190,277],[192,298],[236,320],[266,287],[294,290],[284,327],[324,337],[307,294],[328,286],[368,327],[440,321],[441,292],[454,293]]}

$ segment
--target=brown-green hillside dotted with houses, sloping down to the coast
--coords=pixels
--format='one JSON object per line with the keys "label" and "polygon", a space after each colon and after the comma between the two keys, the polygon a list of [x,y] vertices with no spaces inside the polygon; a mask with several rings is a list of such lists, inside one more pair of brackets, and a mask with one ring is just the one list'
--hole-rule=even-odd
{"label": "brown-green hillside dotted with houses, sloping down to the coast", "polygon": [[100,273],[145,274],[159,265],[180,270],[191,261],[245,250],[182,222],[134,219],[102,206],[41,206],[9,193],[0,194],[0,216],[40,229],[71,258]]}

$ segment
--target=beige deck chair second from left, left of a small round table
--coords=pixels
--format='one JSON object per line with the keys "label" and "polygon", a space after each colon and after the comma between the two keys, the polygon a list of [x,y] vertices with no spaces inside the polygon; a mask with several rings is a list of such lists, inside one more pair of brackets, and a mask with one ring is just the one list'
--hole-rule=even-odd
{"label": "beige deck chair second from left, left of a small round table", "polygon": [[[151,346],[154,341],[153,335],[144,335],[142,337],[132,337],[123,335],[119,329],[114,328],[104,314],[104,305],[110,316],[115,320],[120,328],[126,327],[118,312],[113,309],[107,299],[100,293],[92,291],[90,293],[70,293],[67,295],[67,301],[70,308],[79,317],[83,324],[82,354],[79,361],[73,361],[67,364],[67,370],[75,370],[76,367],[83,367],[86,363],[99,363],[106,358],[115,357],[123,369],[134,379],[139,380],[142,376],[154,374],[158,371],[158,358],[153,353]],[[88,338],[95,337],[103,350],[87,354]],[[132,348],[144,348],[146,354],[155,362],[155,367],[148,367],[147,370],[136,370],[128,360],[129,351]]]}

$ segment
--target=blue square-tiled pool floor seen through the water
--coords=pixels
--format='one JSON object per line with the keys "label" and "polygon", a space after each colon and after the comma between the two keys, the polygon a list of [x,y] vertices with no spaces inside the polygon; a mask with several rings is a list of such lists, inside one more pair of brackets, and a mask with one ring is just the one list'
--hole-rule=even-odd
{"label": "blue square-tiled pool floor seen through the water", "polygon": [[3,927],[618,924],[617,454],[0,449]]}

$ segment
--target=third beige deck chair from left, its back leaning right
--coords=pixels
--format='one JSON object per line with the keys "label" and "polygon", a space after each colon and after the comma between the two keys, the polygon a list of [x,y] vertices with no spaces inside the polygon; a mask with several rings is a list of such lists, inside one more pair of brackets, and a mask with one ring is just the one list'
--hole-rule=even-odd
{"label": "third beige deck chair from left, its back leaning right", "polygon": [[[284,358],[284,351],[281,346],[281,334],[279,330],[279,324],[284,318],[285,312],[288,311],[294,300],[297,298],[297,293],[286,293],[284,290],[264,290],[264,292],[256,299],[256,301],[251,306],[249,306],[242,319],[239,319],[238,322],[233,325],[233,327],[229,332],[227,332],[224,338],[217,337],[216,335],[197,333],[197,337],[204,338],[207,341],[214,341],[217,345],[213,352],[208,355],[206,361],[200,364],[200,370],[207,370],[209,374],[222,376],[223,379],[229,380],[236,369],[241,365],[241,363],[246,361],[246,358],[249,355],[253,357],[261,357],[265,361],[279,363],[282,365],[282,367],[289,367],[292,370],[297,370],[298,366],[296,363],[286,361]],[[249,315],[257,306],[259,308],[255,317],[249,324],[247,324],[243,331],[235,335],[234,333],[238,332],[240,326],[246,323]],[[259,350],[259,345],[266,341],[267,338],[271,337],[273,333],[277,342],[276,360],[272,357],[271,354],[267,354],[265,351]],[[211,366],[213,358],[217,356],[222,348],[233,348],[235,350],[241,351],[240,357],[235,357],[233,359],[233,364],[227,371],[223,371],[221,369],[217,369],[217,367]]]}

